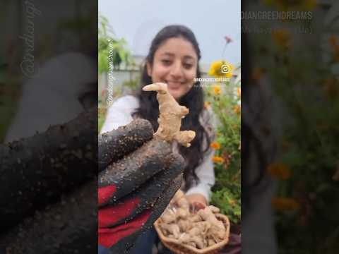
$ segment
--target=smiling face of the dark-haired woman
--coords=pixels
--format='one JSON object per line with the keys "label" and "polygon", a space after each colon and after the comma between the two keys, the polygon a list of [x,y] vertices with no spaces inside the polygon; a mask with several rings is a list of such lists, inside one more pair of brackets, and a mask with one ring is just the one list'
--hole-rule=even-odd
{"label": "smiling face of the dark-haired woman", "polygon": [[191,42],[183,38],[170,38],[154,54],[153,66],[147,63],[148,75],[153,83],[167,83],[174,99],[186,95],[194,84],[198,56]]}

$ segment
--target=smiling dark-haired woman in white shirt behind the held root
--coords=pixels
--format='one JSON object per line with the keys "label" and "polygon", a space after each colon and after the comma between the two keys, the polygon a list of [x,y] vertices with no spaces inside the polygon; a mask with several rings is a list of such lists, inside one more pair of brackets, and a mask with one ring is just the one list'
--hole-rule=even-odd
{"label": "smiling dark-haired woman in white shirt behind the held root", "polygon": [[[194,33],[183,25],[169,25],[157,33],[146,56],[135,96],[124,96],[109,107],[102,126],[102,133],[130,123],[133,119],[147,119],[157,130],[159,103],[156,92],[147,92],[143,87],[151,83],[167,83],[168,92],[181,105],[189,109],[182,119],[181,131],[194,131],[196,137],[189,147],[174,143],[172,150],[184,157],[184,183],[182,190],[192,207],[208,205],[211,187],[215,183],[213,167],[215,122],[213,111],[203,107],[203,88],[196,78],[201,78],[198,62],[200,49]],[[140,236],[135,253],[150,254],[157,239],[154,229]],[[132,252],[133,253],[133,252]]]}

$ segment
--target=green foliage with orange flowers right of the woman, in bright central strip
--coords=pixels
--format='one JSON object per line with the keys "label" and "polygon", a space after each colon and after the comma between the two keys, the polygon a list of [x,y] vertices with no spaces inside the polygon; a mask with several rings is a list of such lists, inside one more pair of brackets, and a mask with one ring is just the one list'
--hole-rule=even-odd
{"label": "green foliage with orange flowers right of the woman, in bright central strip", "polygon": [[223,160],[215,163],[211,203],[220,207],[222,213],[235,224],[241,219],[241,117],[237,90],[240,92],[239,84],[230,81],[206,87],[205,90],[206,101],[210,102],[219,122],[215,142],[220,149],[215,150],[215,157]]}

